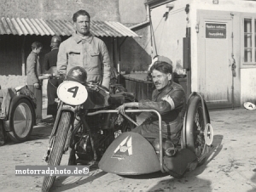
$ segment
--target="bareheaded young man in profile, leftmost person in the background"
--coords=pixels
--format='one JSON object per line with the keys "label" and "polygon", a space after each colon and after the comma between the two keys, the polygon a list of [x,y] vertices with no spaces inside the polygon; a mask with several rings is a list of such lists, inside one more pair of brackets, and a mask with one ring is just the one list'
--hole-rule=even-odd
{"label": "bareheaded young man in profile, leftmost person in the background", "polygon": [[36,122],[42,120],[42,88],[38,76],[41,74],[41,66],[39,63],[39,54],[43,45],[41,42],[32,43],[32,52],[26,59],[26,84],[27,87],[34,93],[37,99]]}

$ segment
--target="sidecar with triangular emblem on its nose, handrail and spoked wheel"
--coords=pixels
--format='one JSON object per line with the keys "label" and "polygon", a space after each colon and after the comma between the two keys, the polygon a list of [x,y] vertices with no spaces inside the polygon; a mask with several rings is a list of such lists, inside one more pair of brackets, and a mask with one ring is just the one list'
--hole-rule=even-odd
{"label": "sidecar with triangular emblem on its nose, handrail and spoked wheel", "polygon": [[[191,93],[184,116],[181,139],[173,147],[162,138],[150,138],[138,133],[121,133],[102,156],[99,167],[105,172],[119,175],[141,175],[151,172],[169,172],[181,178],[186,171],[194,170],[207,158],[212,149],[213,129],[207,105],[199,93]],[[156,110],[126,110],[126,112],[154,112]]]}

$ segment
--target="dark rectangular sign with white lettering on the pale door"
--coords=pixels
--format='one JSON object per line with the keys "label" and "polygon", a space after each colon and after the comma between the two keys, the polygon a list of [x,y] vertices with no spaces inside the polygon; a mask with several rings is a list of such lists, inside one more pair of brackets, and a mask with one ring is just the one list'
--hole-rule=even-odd
{"label": "dark rectangular sign with white lettering on the pale door", "polygon": [[227,26],[223,23],[206,23],[207,38],[226,38]]}

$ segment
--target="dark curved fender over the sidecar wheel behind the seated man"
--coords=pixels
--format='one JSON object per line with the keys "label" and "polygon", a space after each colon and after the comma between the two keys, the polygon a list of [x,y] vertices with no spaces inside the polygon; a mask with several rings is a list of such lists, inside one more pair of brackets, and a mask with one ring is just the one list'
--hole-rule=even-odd
{"label": "dark curved fender over the sidecar wheel behind the seated man", "polygon": [[[193,133],[193,127],[194,127],[194,114],[196,110],[196,106],[201,103],[203,115],[205,118],[205,121],[210,122],[210,116],[209,111],[207,109],[206,101],[202,98],[201,94],[199,93],[191,93],[189,96],[188,101],[188,109],[186,111],[186,115],[184,118],[184,124],[183,124],[183,147],[189,148],[189,150],[194,151],[194,136],[191,135]],[[188,118],[193,116],[193,118]],[[189,136],[190,135],[190,136]]]}

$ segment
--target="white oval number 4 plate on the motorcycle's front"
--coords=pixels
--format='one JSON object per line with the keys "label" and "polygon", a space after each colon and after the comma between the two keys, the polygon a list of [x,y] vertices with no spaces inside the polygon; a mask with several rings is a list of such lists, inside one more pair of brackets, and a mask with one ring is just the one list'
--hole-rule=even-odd
{"label": "white oval number 4 plate on the motorcycle's front", "polygon": [[59,99],[66,104],[83,104],[88,97],[84,85],[79,82],[62,82],[57,89]]}

